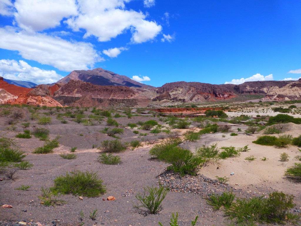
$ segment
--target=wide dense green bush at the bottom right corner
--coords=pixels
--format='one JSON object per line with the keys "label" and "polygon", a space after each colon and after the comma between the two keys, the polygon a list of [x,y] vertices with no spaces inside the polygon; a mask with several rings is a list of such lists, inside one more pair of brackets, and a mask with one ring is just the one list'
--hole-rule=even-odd
{"label": "wide dense green bush at the bottom right corner", "polygon": [[273,192],[268,198],[262,196],[250,199],[238,198],[232,203],[231,208],[225,209],[225,213],[230,219],[236,218],[237,223],[257,221],[284,224],[285,221],[294,221],[298,218],[289,212],[294,206],[292,195]]}

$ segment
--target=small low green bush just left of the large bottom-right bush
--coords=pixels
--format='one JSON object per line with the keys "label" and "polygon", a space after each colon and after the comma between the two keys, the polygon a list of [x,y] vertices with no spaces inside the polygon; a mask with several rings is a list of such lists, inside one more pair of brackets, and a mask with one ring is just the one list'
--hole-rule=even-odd
{"label": "small low green bush just left of the large bottom-right bush", "polygon": [[230,208],[232,202],[234,201],[234,198],[235,198],[235,194],[233,194],[232,191],[223,192],[220,195],[212,193],[209,195],[207,199],[207,203],[213,206],[214,209],[219,209],[222,206],[224,206],[225,208]]}

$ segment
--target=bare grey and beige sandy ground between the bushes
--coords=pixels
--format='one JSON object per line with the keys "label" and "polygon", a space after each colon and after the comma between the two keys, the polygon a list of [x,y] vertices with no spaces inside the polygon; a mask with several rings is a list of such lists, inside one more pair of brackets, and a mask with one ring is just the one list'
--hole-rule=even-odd
{"label": "bare grey and beige sandy ground between the bushes", "polygon": [[[256,115],[256,113],[253,114]],[[163,225],[168,225],[172,212],[178,212],[180,225],[189,224],[196,215],[199,215],[196,225],[217,226],[229,223],[229,220],[223,216],[222,211],[213,211],[202,196],[193,193],[169,192],[162,203],[163,210],[157,215],[144,216],[135,212],[132,203],[137,203],[135,198],[137,192],[142,192],[143,187],[146,186],[157,186],[157,176],[167,166],[164,162],[150,159],[148,152],[152,145],[145,145],[135,150],[129,149],[126,152],[119,153],[118,155],[123,161],[120,165],[104,165],[97,161],[99,150],[92,149],[93,144],[99,145],[101,141],[111,138],[98,132],[98,130],[106,127],[104,122],[97,126],[83,126],[73,121],[68,124],[61,124],[55,119],[55,116],[51,116],[52,122],[50,125],[39,126],[36,121],[31,121],[26,117],[23,120],[30,121],[30,130],[36,127],[45,127],[50,130],[51,138],[54,138],[57,134],[62,135],[62,138],[60,139],[60,146],[54,149],[54,153],[44,155],[31,153],[35,147],[42,146],[43,141],[35,137],[15,139],[20,150],[27,154],[25,160],[33,163],[34,166],[30,170],[18,171],[16,180],[7,180],[4,174],[0,174],[0,178],[4,178],[3,181],[0,181],[1,205],[9,204],[13,206],[11,209],[0,208],[0,221],[16,221],[18,219],[29,221],[33,219],[35,222],[51,224],[51,221],[59,220],[58,225],[78,225],[80,223],[79,212],[83,211],[85,225],[101,225],[101,223],[104,223],[104,225],[116,226],[157,226],[159,221]],[[123,125],[128,122],[150,119],[158,121],[158,118],[154,117],[137,117],[139,118],[117,118],[116,120]],[[20,126],[22,120],[15,124],[15,131],[8,131],[5,130],[8,127],[8,119],[6,117],[0,118],[1,134],[6,133],[6,137],[13,138],[15,134],[23,131]],[[158,122],[162,124],[162,122]],[[237,128],[237,125],[231,126],[233,131],[237,131]],[[239,128],[244,131],[247,127],[239,125]],[[184,145],[191,151],[205,143],[206,145],[217,143],[218,147],[234,146],[237,148],[249,145],[251,149],[249,152],[242,152],[239,157],[222,160],[218,165],[211,164],[203,167],[199,173],[212,179],[215,179],[216,176],[229,177],[229,185],[233,187],[237,196],[252,197],[267,194],[274,190],[293,194],[296,208],[301,208],[301,184],[290,182],[283,176],[287,167],[297,162],[293,160],[296,155],[300,155],[297,147],[288,146],[284,149],[278,149],[272,146],[260,146],[252,143],[259,134],[245,135],[243,132],[237,132],[238,136],[230,136],[230,133],[204,134],[197,142],[185,142]],[[296,137],[301,134],[301,130],[288,131],[287,133]],[[79,136],[79,134],[83,134],[83,136]],[[225,137],[222,137],[223,134]],[[127,128],[125,128],[125,133],[120,136],[122,140],[138,138],[132,133],[131,129]],[[159,136],[160,134],[157,138]],[[155,136],[149,134],[146,137],[154,138]],[[71,146],[78,146],[77,159],[62,159],[58,154],[69,152]],[[290,156],[288,162],[279,161],[282,152],[286,152]],[[245,160],[250,155],[254,155],[257,159],[252,162]],[[263,157],[266,157],[267,161],[261,161],[260,158]],[[219,166],[218,169],[217,166]],[[67,202],[66,204],[56,207],[43,206],[39,199],[42,194],[41,187],[53,186],[53,180],[57,176],[73,170],[97,172],[107,186],[107,192],[97,198],[84,197],[83,200],[80,200],[77,196],[65,195],[62,199]],[[234,175],[231,176],[231,172]],[[32,187],[29,191],[15,190],[20,185],[32,185]],[[210,187],[209,192],[220,193],[222,190],[213,186],[213,188]],[[108,196],[114,196],[116,200],[102,201],[103,198],[106,199]],[[22,210],[25,209],[26,212],[23,212]],[[88,215],[89,212],[95,209],[98,210],[98,215],[96,220],[92,221]]]}

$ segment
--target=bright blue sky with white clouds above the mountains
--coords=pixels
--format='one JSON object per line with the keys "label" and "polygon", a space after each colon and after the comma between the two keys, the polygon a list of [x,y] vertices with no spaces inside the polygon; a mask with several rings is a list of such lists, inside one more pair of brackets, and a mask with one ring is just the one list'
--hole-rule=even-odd
{"label": "bright blue sky with white clouds above the mountains", "polygon": [[0,0],[0,76],[102,67],[142,83],[301,77],[301,1]]}

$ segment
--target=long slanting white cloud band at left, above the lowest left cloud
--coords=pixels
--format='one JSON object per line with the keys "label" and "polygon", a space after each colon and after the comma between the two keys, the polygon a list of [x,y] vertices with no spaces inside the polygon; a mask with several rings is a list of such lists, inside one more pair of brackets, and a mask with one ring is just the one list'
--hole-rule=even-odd
{"label": "long slanting white cloud band at left, above the lowest left cloud", "polygon": [[46,34],[26,34],[0,28],[0,48],[19,51],[27,60],[54,66],[62,71],[86,70],[104,60],[91,43],[68,42]]}

